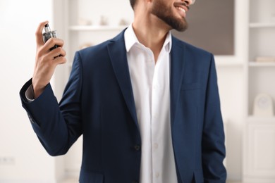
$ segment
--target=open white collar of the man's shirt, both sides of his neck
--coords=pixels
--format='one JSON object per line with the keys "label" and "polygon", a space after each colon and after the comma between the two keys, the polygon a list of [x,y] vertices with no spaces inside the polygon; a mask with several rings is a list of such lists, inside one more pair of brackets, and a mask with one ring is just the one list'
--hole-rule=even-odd
{"label": "open white collar of the man's shirt, both sides of his neck", "polygon": [[[137,36],[135,35],[135,32],[133,30],[133,24],[131,24],[125,31],[124,33],[124,39],[125,39],[125,45],[126,45],[126,51],[129,52],[130,49],[135,45],[135,44],[140,44],[138,41]],[[169,52],[171,51],[172,47],[172,35],[171,32],[169,31],[166,39],[164,41],[164,46],[165,51]]]}

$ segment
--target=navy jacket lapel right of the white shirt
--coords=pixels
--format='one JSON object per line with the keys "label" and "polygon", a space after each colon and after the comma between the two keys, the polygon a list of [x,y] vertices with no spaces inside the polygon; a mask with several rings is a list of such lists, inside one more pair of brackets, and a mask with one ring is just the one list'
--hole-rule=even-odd
{"label": "navy jacket lapel right of the white shirt", "polygon": [[172,37],[171,69],[170,69],[170,95],[171,95],[171,127],[176,117],[178,97],[183,83],[185,70],[185,46],[178,39]]}

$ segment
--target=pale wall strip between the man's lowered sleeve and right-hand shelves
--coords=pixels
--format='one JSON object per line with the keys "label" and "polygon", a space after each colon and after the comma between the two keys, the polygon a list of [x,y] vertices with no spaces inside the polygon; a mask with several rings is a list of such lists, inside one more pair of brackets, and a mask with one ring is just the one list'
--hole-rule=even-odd
{"label": "pale wall strip between the man's lowered sleeve and right-hand shelves", "polygon": [[221,113],[226,130],[226,170],[228,179],[240,180],[243,141],[243,67],[217,68]]}

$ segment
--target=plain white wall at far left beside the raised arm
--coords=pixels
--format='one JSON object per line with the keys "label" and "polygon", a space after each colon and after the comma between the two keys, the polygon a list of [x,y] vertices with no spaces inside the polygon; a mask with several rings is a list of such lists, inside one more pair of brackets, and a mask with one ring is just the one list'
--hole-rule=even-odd
{"label": "plain white wall at far left beside the raised arm", "polygon": [[0,1],[0,182],[54,182],[56,158],[33,132],[19,91],[32,77],[35,30],[52,20],[51,0]]}

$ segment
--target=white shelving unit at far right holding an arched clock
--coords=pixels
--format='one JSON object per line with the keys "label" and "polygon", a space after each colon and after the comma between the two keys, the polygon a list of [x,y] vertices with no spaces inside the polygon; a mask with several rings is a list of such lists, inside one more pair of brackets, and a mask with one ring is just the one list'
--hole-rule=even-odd
{"label": "white shelving unit at far right holding an arched clock", "polygon": [[257,57],[275,58],[275,1],[249,1],[247,65],[247,114],[243,149],[243,181],[275,182],[275,117],[253,114],[257,94],[275,101],[275,62],[259,63]]}

